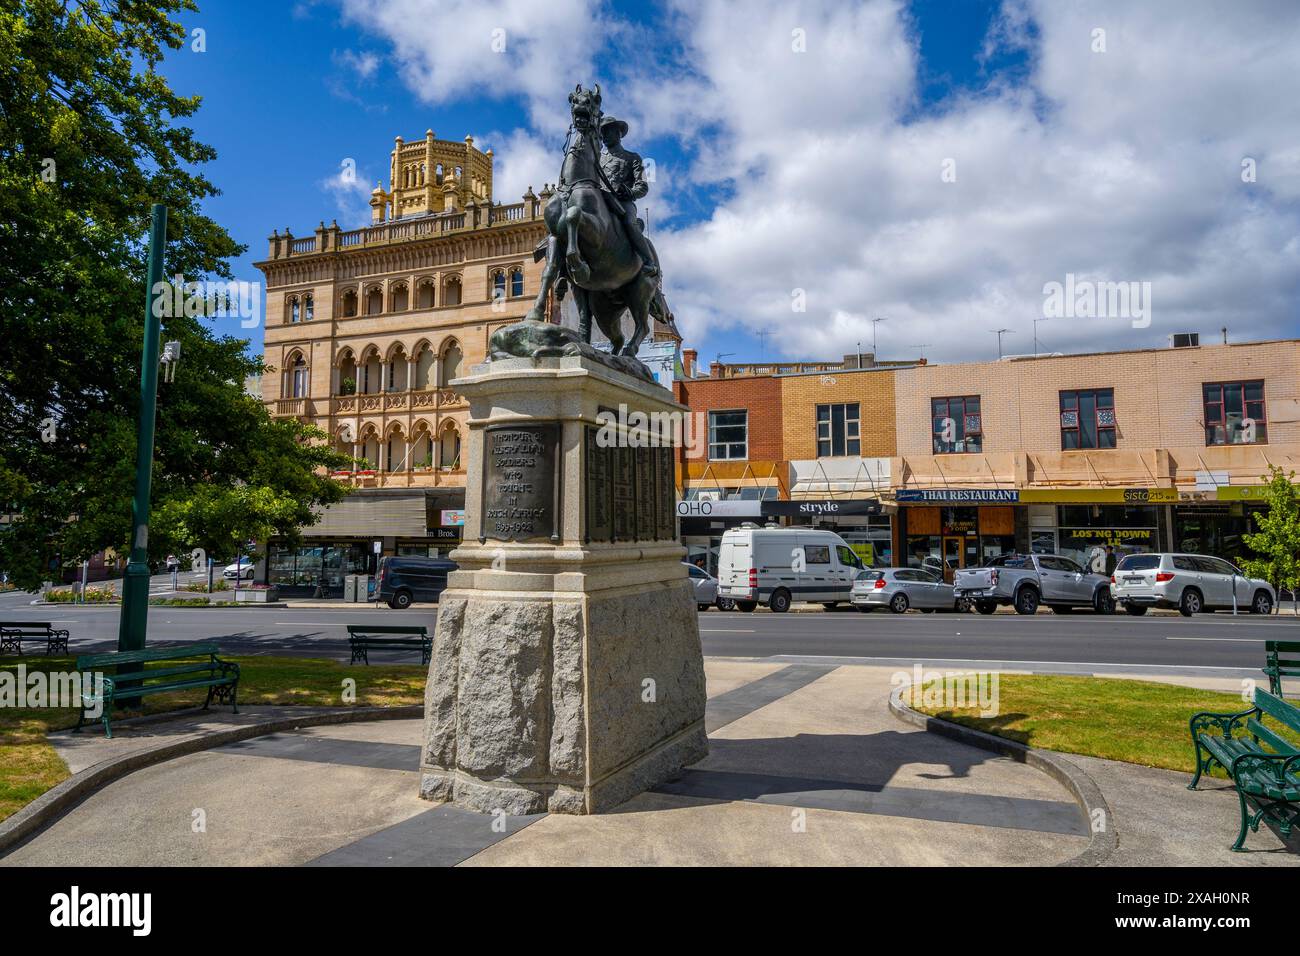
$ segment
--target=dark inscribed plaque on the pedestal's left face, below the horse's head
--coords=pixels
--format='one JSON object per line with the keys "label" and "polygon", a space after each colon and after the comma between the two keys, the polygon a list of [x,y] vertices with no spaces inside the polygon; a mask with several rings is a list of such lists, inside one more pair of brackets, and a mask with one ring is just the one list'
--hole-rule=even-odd
{"label": "dark inscribed plaque on the pedestal's left face, below the horse's head", "polygon": [[559,533],[559,436],[556,423],[485,429],[482,537],[526,541]]}

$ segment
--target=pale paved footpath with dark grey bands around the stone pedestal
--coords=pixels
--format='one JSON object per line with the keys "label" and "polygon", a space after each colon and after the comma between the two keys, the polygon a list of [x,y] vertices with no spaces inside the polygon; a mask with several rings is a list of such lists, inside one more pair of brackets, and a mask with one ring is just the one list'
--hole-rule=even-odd
{"label": "pale paved footpath with dark grey bands around the stone pedestal", "polygon": [[[430,805],[416,797],[420,722],[377,721],[138,770],[0,865],[1005,866],[1060,864],[1088,845],[1083,813],[1045,774],[894,718],[894,669],[711,658],[706,670],[708,757],[614,813],[494,819]],[[55,740],[77,770],[195,719]],[[1260,852],[1227,852],[1230,792],[1070,760],[1112,803],[1112,862],[1300,862],[1268,832],[1251,835]]]}

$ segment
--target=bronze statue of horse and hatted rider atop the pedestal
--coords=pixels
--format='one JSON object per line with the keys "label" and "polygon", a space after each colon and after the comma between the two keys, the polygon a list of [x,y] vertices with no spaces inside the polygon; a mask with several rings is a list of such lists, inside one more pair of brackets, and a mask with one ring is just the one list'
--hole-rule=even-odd
{"label": "bronze statue of horse and hatted rider atop the pedestal", "polygon": [[[493,336],[491,358],[589,354],[594,351],[589,345],[594,317],[612,354],[633,359],[616,364],[634,371],[630,365],[640,365],[634,358],[650,333],[650,316],[672,324],[659,286],[659,258],[637,219],[636,200],[646,195],[649,185],[641,157],[621,144],[627,124],[601,113],[601,86],[585,90],[578,83],[568,99],[572,126],[564,164],[543,213],[550,235],[537,252],[538,259],[546,256],[541,289],[523,323]],[[601,140],[606,144],[603,156]],[[566,341],[559,333],[567,330],[559,326],[537,328],[552,289],[558,297],[573,294],[578,313],[576,342]],[[624,311],[632,313],[633,321],[627,342]]]}

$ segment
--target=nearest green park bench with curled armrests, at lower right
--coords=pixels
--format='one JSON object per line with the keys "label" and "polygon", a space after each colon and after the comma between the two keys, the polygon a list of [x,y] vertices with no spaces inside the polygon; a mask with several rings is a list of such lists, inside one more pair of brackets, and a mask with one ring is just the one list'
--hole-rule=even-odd
{"label": "nearest green park bench with curled armrests, at lower right", "polygon": [[[1244,849],[1247,827],[1258,832],[1264,819],[1275,823],[1283,839],[1291,836],[1300,821],[1300,748],[1265,727],[1261,722],[1265,715],[1300,731],[1300,708],[1260,687],[1254,688],[1254,706],[1249,710],[1202,713],[1191,721],[1196,775],[1187,788],[1196,790],[1201,771],[1213,763],[1227,770],[1242,804],[1242,830],[1232,844],[1235,851]],[[1253,814],[1249,804],[1257,808]]]}

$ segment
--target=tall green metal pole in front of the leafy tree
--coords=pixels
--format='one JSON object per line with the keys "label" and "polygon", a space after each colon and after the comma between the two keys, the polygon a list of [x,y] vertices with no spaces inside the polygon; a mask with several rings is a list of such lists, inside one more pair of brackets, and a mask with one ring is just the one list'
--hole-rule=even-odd
{"label": "tall green metal pole in front of the leafy tree", "polygon": [[[148,278],[144,286],[144,347],[140,351],[140,418],[135,444],[135,501],[131,505],[131,557],[122,579],[118,650],[143,650],[150,613],[150,494],[153,485],[153,428],[157,414],[159,339],[161,320],[153,311],[153,290],[162,282],[166,207],[151,211]],[[118,672],[125,670],[118,669]],[[136,665],[131,670],[139,670]]]}

